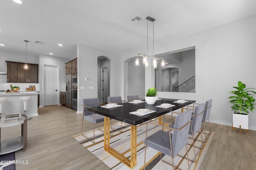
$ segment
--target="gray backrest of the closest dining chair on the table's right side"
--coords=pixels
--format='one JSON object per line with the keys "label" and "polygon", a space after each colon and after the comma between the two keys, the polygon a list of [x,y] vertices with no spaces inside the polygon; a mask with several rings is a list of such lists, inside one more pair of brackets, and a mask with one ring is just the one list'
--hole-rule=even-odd
{"label": "gray backrest of the closest dining chair on the table's right side", "polygon": [[[184,111],[183,113],[177,115],[174,122],[174,128],[180,129],[182,126],[188,123],[191,120],[191,115],[192,115],[191,110]],[[172,135],[173,157],[175,157],[180,152],[180,150],[186,145],[188,141],[189,127],[190,127],[190,123],[180,131],[173,131],[173,135]]]}

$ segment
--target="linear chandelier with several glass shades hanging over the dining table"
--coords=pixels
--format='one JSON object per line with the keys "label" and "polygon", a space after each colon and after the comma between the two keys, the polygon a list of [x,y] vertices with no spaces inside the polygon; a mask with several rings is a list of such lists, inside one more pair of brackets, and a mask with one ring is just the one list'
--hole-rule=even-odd
{"label": "linear chandelier with several glass shades hanging over the dining table", "polygon": [[[163,58],[157,58],[157,57],[154,56],[154,21],[156,19],[148,16],[146,18],[146,20],[147,20],[147,54],[145,54],[145,53],[140,54],[139,53],[138,56],[137,56],[137,59],[135,60],[135,65],[136,66],[140,65],[138,57],[143,57],[143,64],[145,64],[145,67],[148,67],[148,58],[153,59],[153,66],[154,66],[154,68],[157,68],[157,60],[161,60],[162,59],[161,66],[164,67],[165,66],[164,59]],[[148,21],[153,22],[153,55],[152,56],[148,55]]]}

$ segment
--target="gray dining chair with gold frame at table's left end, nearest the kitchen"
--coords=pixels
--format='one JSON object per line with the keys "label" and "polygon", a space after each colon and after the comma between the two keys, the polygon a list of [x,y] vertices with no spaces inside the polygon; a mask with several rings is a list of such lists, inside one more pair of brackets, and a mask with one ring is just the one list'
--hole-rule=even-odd
{"label": "gray dining chair with gold frame at table's left end, nearest the kitchen", "polygon": [[[98,123],[98,129],[100,131],[102,131],[99,127],[100,126],[99,123],[104,122],[104,116],[99,115],[97,113],[90,112],[90,111],[87,110],[87,108],[100,106],[100,101],[99,101],[98,98],[83,99],[82,100],[82,106],[84,106],[84,110],[83,110],[84,116],[82,118],[81,134],[82,134],[82,136],[84,136],[86,139],[88,139],[92,143],[95,143],[95,127],[94,127],[94,124]],[[91,137],[86,137],[85,135],[83,135],[84,119],[93,123],[93,141],[90,139]],[[112,127],[112,123],[111,123],[111,127]],[[102,132],[104,132],[104,131],[102,131]],[[113,134],[113,131],[112,131],[112,134]]]}

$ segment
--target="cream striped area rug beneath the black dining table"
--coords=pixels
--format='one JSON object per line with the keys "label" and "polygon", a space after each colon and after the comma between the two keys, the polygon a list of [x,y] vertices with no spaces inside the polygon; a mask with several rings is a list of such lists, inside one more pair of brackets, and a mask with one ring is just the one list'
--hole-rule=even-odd
{"label": "cream striped area rug beneath the black dining table", "polygon": [[[155,121],[156,123],[158,120]],[[113,129],[118,129],[120,127],[119,123],[116,123],[113,125]],[[103,127],[102,127],[103,129]],[[156,125],[148,124],[148,136],[155,133],[158,130],[162,130],[162,127],[158,127]],[[92,144],[88,139],[84,138],[81,134],[74,135],[73,138],[76,139],[81,145],[83,145],[86,149],[88,149],[92,154],[97,156],[104,164],[106,164],[110,169],[112,170],[130,170],[130,168],[126,165],[124,165],[122,162],[111,156],[108,152],[104,150],[104,136],[102,134],[102,131],[95,131],[97,133],[96,142]],[[204,132],[204,131],[203,131]],[[84,135],[92,135],[93,131],[85,132]],[[195,146],[200,147],[201,149],[198,149],[195,147],[195,154],[196,154],[196,161],[189,162],[190,169],[198,169],[202,163],[202,160],[206,154],[206,151],[208,150],[210,143],[214,137],[214,132],[211,134],[206,131],[206,137],[204,133],[202,133],[202,139],[203,141],[207,141],[206,143],[202,143],[200,141],[194,140]],[[142,170],[144,169],[144,151],[145,151],[145,145],[143,144],[143,140],[145,139],[146,135],[146,124],[137,125],[137,165],[132,168],[132,170]],[[191,136],[190,136],[191,137]],[[201,140],[200,133],[196,133],[195,135],[196,139]],[[188,144],[192,144],[192,139],[188,139]],[[195,160],[194,158],[194,148],[190,145],[188,146],[188,157],[190,160]],[[113,131],[113,135],[110,138],[110,147],[114,150],[118,151],[119,153],[124,153],[126,150],[130,148],[130,126],[126,125],[122,129],[122,133],[118,131]],[[184,156],[186,155],[186,147],[184,147],[179,155]],[[130,153],[127,152],[125,154],[127,158],[130,158]],[[171,157],[162,154],[162,159],[166,160],[167,162],[171,162]],[[174,158],[174,165],[178,166],[180,169],[188,169],[188,162],[186,159],[176,156]],[[164,170],[164,169],[172,169],[172,166],[162,162],[160,160],[160,152],[157,150],[154,150],[150,147],[146,148],[146,169],[152,169],[152,170]]]}

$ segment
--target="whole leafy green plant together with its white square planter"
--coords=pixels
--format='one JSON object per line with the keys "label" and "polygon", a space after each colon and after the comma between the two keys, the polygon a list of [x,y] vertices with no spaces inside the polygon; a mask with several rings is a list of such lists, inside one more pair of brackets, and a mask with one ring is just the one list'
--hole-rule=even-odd
{"label": "whole leafy green plant together with its white square planter", "polygon": [[233,111],[233,129],[236,127],[241,129],[246,129],[248,131],[248,113],[249,111],[253,112],[255,109],[255,99],[254,91],[255,88],[246,88],[246,85],[243,84],[241,81],[238,81],[238,86],[233,87],[236,90],[230,91],[229,93],[232,94],[228,99],[230,99],[230,103],[232,106],[230,107]]}

